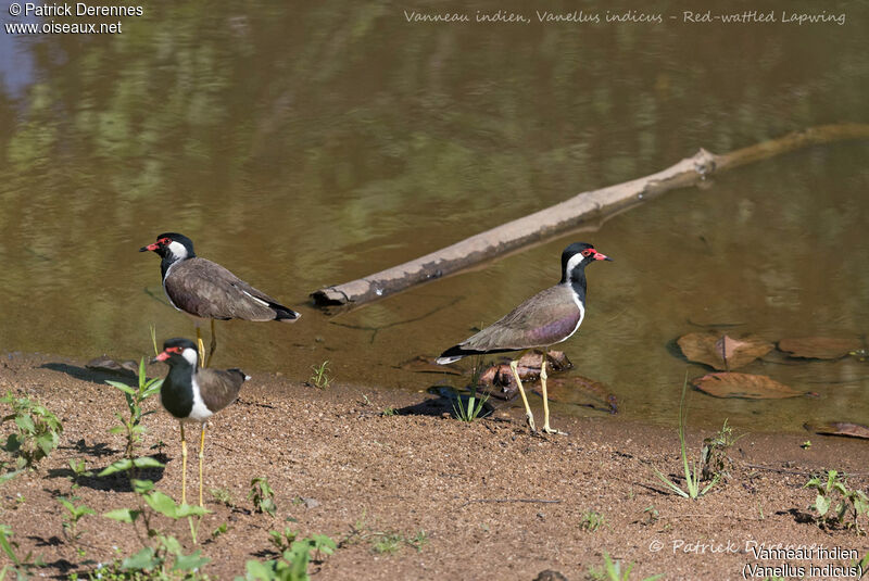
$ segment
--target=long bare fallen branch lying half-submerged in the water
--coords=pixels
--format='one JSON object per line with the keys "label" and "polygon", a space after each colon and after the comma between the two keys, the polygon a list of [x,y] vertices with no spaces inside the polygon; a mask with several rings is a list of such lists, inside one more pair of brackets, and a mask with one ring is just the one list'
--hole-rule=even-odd
{"label": "long bare fallen branch lying half-submerged in the water", "polygon": [[701,149],[692,157],[656,174],[582,192],[414,261],[351,282],[325,287],[313,292],[311,296],[318,306],[367,303],[454,274],[527,244],[549,240],[577,228],[583,222],[614,214],[653,195],[694,186],[716,173],[809,146],[861,138],[869,138],[869,125],[821,125],[721,155]]}

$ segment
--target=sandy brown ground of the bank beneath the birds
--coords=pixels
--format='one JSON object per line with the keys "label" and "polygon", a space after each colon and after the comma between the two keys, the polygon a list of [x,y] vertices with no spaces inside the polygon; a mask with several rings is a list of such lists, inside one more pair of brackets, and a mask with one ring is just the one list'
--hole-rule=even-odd
{"label": "sandy brown ground of the bank beneath the birds", "polygon": [[[64,426],[60,449],[38,471],[0,489],[0,522],[13,528],[23,553],[41,555],[47,566],[39,573],[46,577],[66,578],[86,571],[85,559],[111,561],[141,548],[129,525],[100,516],[136,506],[125,481],[87,478],[74,492],[98,513],[79,523],[84,557],[64,536],[64,509],[55,500],[71,494],[70,459],[83,458],[98,471],[121,457],[123,439],[109,429],[125,405],[103,383],[108,377],[81,362],[39,355],[9,354],[0,363],[0,390],[45,402]],[[533,403],[540,407],[538,397]],[[148,408],[158,406],[155,397],[148,402]],[[387,407],[398,415],[385,416]],[[803,489],[813,471],[836,468],[854,475],[851,487],[866,491],[866,441],[811,434],[813,445],[804,450],[806,434],[748,433],[731,450],[730,479],[690,501],[667,493],[652,469],[681,473],[675,429],[618,416],[555,417],[569,435],[540,437],[528,433],[516,407],[474,424],[446,412],[427,393],[342,384],[319,390],[254,375],[207,435],[205,488],[225,489],[235,507],[206,493],[212,513],[202,519],[198,546],[186,522],[159,522],[187,550],[201,548],[212,559],[203,569],[212,579],[232,579],[243,574],[247,559],[273,557],[268,531],[286,526],[340,543],[310,568],[313,579],[324,580],[530,581],[544,570],[577,580],[601,567],[604,553],[625,566],[633,563],[631,579],[741,579],[752,572],[746,567],[757,566],[780,568],[760,570],[758,579],[798,578],[799,567],[806,579],[841,579],[847,577],[809,569],[849,565],[818,546],[856,550],[860,557],[869,552],[865,535],[806,521],[814,494]],[[156,485],[180,497],[178,425],[162,411],[144,424],[146,449],[166,444],[168,462],[153,475]],[[690,450],[697,453],[707,435],[689,427]],[[188,485],[194,493],[194,453],[191,459]],[[254,476],[267,477],[275,489],[275,518],[251,510],[247,495]],[[596,530],[583,526],[589,511],[603,516]],[[228,532],[211,539],[222,523]],[[407,542],[378,553],[381,533]],[[786,545],[806,547],[808,556],[755,554]]]}

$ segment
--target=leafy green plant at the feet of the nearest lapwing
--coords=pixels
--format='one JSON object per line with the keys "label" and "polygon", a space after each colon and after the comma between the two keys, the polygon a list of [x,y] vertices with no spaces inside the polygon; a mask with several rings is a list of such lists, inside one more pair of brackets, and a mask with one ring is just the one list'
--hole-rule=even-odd
{"label": "leafy green plant at the feet of the nearest lapwing", "polygon": [[[116,508],[103,516],[126,522],[134,527],[137,536],[142,541],[143,547],[136,554],[126,557],[116,568],[119,571],[135,574],[142,571],[150,572],[152,577],[146,579],[174,579],[177,577],[189,578],[210,559],[202,556],[202,551],[194,551],[186,555],[181,543],[173,535],[158,528],[158,516],[172,520],[187,518],[190,522],[190,534],[193,544],[197,542],[196,529],[191,517],[201,517],[207,510],[201,506],[177,504],[171,496],[154,490],[150,480],[131,480],[134,491],[139,495],[142,505],[139,508]],[[144,528],[144,535],[139,532],[138,526]]]}

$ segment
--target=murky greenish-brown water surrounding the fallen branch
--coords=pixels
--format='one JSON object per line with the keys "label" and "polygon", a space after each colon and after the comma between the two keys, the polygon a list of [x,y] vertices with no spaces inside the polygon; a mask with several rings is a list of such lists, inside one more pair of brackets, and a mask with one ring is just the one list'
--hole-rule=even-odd
{"label": "murky greenish-brown water surrounding the fallen branch", "polygon": [[[671,421],[685,370],[703,369],[667,345],[696,324],[866,332],[869,143],[750,166],[335,318],[307,294],[700,147],[867,121],[869,4],[833,4],[842,26],[690,25],[669,2],[634,7],[662,24],[597,25],[540,24],[533,8],[516,8],[525,25],[414,24],[403,11],[420,7],[391,2],[211,2],[146,7],[114,36],[0,31],[0,350],[137,357],[150,323],[190,336],[159,261],[137,252],[176,230],[304,315],[218,324],[217,365],[304,380],[329,359],[337,382],[423,390],[451,378],[399,363],[553,283],[561,250],[589,240],[616,262],[589,269],[565,350],[624,416]],[[27,22],[5,4],[2,20]],[[820,397],[694,394],[692,418],[869,419],[869,363],[750,370]]]}

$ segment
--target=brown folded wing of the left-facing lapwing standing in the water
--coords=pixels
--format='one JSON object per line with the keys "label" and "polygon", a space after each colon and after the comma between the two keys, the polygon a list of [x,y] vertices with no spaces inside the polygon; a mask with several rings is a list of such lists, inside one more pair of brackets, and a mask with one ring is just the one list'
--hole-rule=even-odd
{"label": "brown folded wing of the left-facing lapwing standing in the water", "polygon": [[[164,280],[173,304],[203,318],[272,320],[277,302],[217,263],[194,257],[175,264]],[[265,303],[265,304],[264,304]]]}

